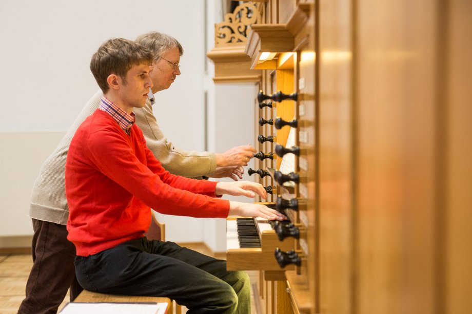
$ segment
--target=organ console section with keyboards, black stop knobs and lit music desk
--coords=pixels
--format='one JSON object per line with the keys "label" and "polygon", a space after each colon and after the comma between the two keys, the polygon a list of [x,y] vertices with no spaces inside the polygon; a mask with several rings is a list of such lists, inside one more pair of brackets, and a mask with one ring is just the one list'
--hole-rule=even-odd
{"label": "organ console section with keyboards, black stop knobs and lit music desk", "polygon": [[[314,185],[311,183],[315,176],[312,156],[315,137],[311,130],[306,129],[307,125],[316,125],[313,118],[313,77],[308,76],[308,73],[315,73],[314,47],[310,46],[314,39],[311,32],[304,31],[308,16],[314,18],[314,14],[307,10],[307,4],[294,5],[292,0],[279,2],[277,12],[269,3],[254,5],[264,7],[261,19],[265,23],[251,25],[244,48],[251,60],[248,68],[261,73],[256,82],[259,92],[254,95],[254,112],[258,121],[255,130],[259,134],[259,152],[254,154],[254,162],[258,170],[249,168],[248,174],[258,174],[254,176],[255,181],[266,185],[264,189],[271,202],[262,204],[284,213],[287,219],[269,222],[229,217],[226,220],[227,268],[261,271],[259,292],[254,291],[254,298],[264,299],[259,303],[264,304],[265,313],[314,314],[316,253],[312,204]],[[248,10],[251,17],[260,14],[253,5],[247,6],[251,7]],[[239,11],[243,15],[241,12],[246,11]],[[277,18],[280,25],[267,24],[281,12],[284,12],[284,17]],[[221,25],[221,29],[224,27],[227,26]],[[224,36],[221,32],[215,38]],[[304,41],[308,38],[309,41]],[[227,47],[225,45],[224,49]],[[269,54],[276,58],[263,61],[263,47],[274,49]],[[301,62],[303,52],[307,52],[304,63]],[[226,54],[221,58],[228,59]],[[234,69],[235,75],[242,72],[241,60],[235,61]],[[229,73],[221,70],[218,73],[221,79],[229,77]],[[241,81],[241,77],[234,81]],[[303,91],[306,86],[309,88]],[[271,143],[277,143],[274,153],[270,152]]]}

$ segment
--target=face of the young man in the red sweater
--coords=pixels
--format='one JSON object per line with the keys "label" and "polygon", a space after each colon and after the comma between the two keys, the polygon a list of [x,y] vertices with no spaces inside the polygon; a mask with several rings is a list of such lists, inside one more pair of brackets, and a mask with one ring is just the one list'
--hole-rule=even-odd
{"label": "face of the young man in the red sweater", "polygon": [[133,108],[144,107],[146,103],[149,88],[152,87],[149,68],[148,64],[134,65],[126,73],[126,83],[122,84],[119,94],[123,106],[130,109],[129,112]]}

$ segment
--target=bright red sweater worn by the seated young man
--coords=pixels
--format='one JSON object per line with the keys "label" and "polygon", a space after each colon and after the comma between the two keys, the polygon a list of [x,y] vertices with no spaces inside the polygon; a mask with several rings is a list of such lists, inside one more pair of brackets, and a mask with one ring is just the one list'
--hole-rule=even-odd
{"label": "bright red sweater worn by the seated young man", "polygon": [[217,182],[170,174],[147,148],[136,124],[130,135],[96,110],[77,129],[66,162],[67,238],[89,256],[143,236],[152,207],[169,215],[226,218]]}

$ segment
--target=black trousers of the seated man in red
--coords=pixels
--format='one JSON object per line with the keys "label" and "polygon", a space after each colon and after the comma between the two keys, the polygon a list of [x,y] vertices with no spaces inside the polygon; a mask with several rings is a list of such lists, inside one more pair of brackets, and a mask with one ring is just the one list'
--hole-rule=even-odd
{"label": "black trousers of the seated man in red", "polygon": [[173,242],[146,237],[88,257],[75,258],[78,282],[87,290],[116,295],[168,297],[188,313],[251,311],[245,271]]}

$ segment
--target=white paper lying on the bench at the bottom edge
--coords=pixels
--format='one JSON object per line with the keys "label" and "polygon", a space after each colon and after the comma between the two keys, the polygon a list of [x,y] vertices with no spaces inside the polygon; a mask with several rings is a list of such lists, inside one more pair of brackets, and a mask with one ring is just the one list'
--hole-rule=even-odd
{"label": "white paper lying on the bench at the bottom edge", "polygon": [[167,303],[67,303],[61,314],[165,314]]}

